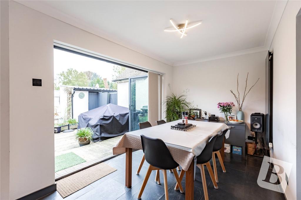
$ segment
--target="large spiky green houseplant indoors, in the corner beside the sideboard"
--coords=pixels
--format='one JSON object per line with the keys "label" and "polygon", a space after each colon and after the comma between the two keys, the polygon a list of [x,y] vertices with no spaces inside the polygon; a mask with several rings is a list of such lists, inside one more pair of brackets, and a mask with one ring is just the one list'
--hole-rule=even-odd
{"label": "large spiky green houseplant indoors, in the corner beside the sideboard", "polygon": [[186,95],[175,95],[172,93],[171,96],[166,96],[165,117],[167,122],[172,122],[182,118],[182,112],[187,111],[191,107],[191,103],[186,101]]}

